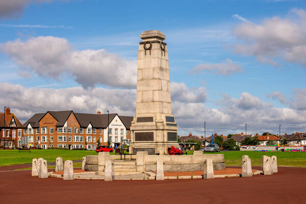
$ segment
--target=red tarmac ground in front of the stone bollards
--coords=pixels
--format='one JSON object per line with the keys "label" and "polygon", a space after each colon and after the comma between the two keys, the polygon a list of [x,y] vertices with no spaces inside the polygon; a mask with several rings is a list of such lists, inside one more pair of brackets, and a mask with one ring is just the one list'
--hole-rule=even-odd
{"label": "red tarmac ground in front of the stone bollards", "polygon": [[247,178],[114,182],[38,179],[31,170],[2,171],[0,203],[306,203],[306,168],[278,171]]}

